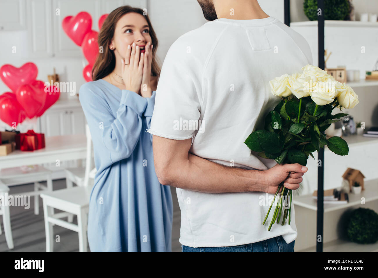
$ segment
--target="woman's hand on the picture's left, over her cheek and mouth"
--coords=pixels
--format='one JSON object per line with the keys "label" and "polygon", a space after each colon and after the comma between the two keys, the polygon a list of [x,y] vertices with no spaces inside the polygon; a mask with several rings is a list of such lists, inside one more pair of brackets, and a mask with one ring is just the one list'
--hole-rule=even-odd
{"label": "woman's hand on the picture's left, over her cheek and mouth", "polygon": [[[133,43],[129,45],[126,51],[125,60],[122,61],[122,78],[125,83],[126,90],[133,91],[138,94],[141,87],[143,77],[143,63],[144,57],[141,53],[141,59],[139,60],[139,46]],[[128,65],[125,65],[128,64]]]}

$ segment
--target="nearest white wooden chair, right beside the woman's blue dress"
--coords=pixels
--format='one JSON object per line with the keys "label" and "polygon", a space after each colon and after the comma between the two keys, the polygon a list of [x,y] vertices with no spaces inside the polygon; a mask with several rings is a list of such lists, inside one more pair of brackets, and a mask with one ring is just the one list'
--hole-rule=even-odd
{"label": "nearest white wooden chair, right beside the woman's blue dress", "polygon": [[[70,185],[69,188],[55,190],[41,194],[43,199],[43,212],[45,213],[45,232],[46,232],[46,252],[53,252],[53,224],[65,227],[79,233],[79,252],[87,252],[87,215],[89,211],[89,197],[93,186],[93,180],[90,183],[91,171],[91,151],[92,141],[88,125],[85,127],[87,134],[87,157],[85,163],[84,178],[80,179],[80,174],[67,170],[70,181],[77,182],[76,187]],[[63,210],[60,213],[53,213],[53,209]],[[71,223],[72,215],[77,215],[77,225]],[[60,218],[68,216],[68,221]],[[70,222],[71,220],[71,222]]]}

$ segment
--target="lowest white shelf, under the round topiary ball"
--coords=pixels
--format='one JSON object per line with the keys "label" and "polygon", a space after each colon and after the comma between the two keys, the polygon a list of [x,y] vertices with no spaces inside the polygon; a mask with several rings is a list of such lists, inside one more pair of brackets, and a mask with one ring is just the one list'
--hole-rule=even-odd
{"label": "lowest white shelf, under the round topiary ball", "polygon": [[[316,252],[316,246],[303,250],[295,250],[295,252]],[[324,243],[323,252],[378,252],[378,241],[371,244],[358,244],[351,241],[336,239]]]}

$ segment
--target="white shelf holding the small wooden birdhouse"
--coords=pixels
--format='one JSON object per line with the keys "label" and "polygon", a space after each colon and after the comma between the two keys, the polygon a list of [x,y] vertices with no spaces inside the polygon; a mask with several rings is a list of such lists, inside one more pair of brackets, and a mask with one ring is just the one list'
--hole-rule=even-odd
{"label": "white shelf holding the small wooden birdhouse", "polygon": [[[364,188],[360,194],[348,193],[349,202],[347,204],[328,204],[324,203],[324,213],[332,212],[346,207],[361,204],[361,198],[364,197],[366,202],[378,200],[378,179],[364,181]],[[296,196],[293,198],[294,205],[308,208],[310,210],[318,210],[317,200],[313,198],[312,194]]]}

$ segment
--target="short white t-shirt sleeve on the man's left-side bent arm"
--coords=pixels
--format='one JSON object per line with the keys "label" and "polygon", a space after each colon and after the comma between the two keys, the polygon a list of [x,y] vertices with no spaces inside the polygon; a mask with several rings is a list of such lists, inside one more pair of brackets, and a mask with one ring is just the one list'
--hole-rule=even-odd
{"label": "short white t-shirt sleeve on the man's left-side bent arm", "polygon": [[169,48],[156,88],[150,134],[175,140],[192,138],[200,118],[201,68],[198,59],[176,41]]}

